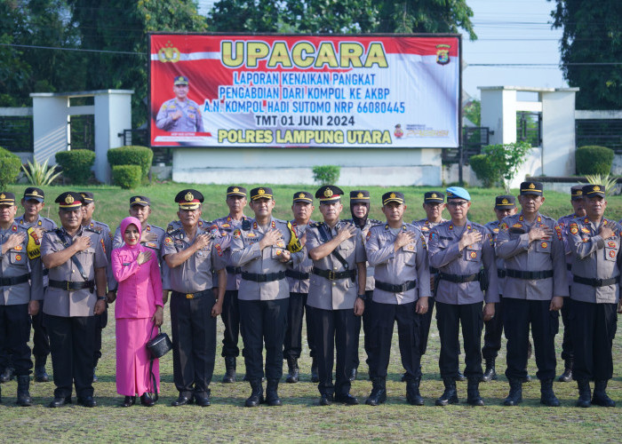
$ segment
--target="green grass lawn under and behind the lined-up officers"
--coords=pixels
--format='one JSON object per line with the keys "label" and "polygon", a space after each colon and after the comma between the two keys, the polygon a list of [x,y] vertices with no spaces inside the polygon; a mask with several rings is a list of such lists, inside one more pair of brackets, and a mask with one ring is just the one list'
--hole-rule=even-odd
{"label": "green grass lawn under and behind the lined-up officers", "polygon": [[[97,209],[95,218],[114,228],[127,215],[129,197],[145,194],[153,202],[152,222],[165,226],[175,218],[176,205],[172,202],[177,192],[185,187],[196,187],[206,197],[203,218],[210,219],[227,214],[224,203],[225,186],[185,186],[165,184],[125,191],[113,186],[88,186],[80,190],[90,190],[95,194]],[[25,186],[12,186],[10,191],[21,195]],[[249,186],[250,188],[250,186]],[[76,189],[70,187],[68,189]],[[279,218],[289,218],[291,214],[291,194],[300,189],[315,191],[310,186],[275,186],[276,210]],[[347,188],[349,191],[353,188]],[[380,218],[380,195],[387,191],[382,187],[368,187],[372,195],[371,216]],[[407,220],[422,218],[422,195],[432,188],[407,187],[400,190],[410,203]],[[50,217],[58,221],[54,198],[65,191],[64,187],[45,187]],[[499,189],[473,188],[472,219],[484,223],[493,216],[492,205]],[[570,212],[569,194],[546,194],[543,213],[558,218]],[[345,210],[348,213],[349,211]],[[622,197],[610,198],[610,218],[622,217]],[[251,211],[246,212],[251,215]],[[315,212],[314,218],[319,218]],[[111,307],[111,313],[114,307]],[[164,310],[164,330],[171,332],[168,309]],[[523,385],[523,403],[519,407],[502,406],[508,385],[505,370],[505,340],[498,357],[499,380],[481,385],[482,396],[486,402],[483,408],[473,408],[464,403],[458,406],[440,408],[434,400],[443,392],[439,377],[438,354],[439,338],[433,322],[427,354],[423,357],[423,381],[421,392],[426,400],[424,407],[411,407],[405,401],[405,385],[400,376],[403,369],[400,363],[397,335],[392,345],[389,377],[387,381],[387,403],[377,408],[365,405],[345,407],[333,405],[323,408],[316,406],[319,393],[315,384],[309,382],[310,358],[308,348],[303,347],[300,360],[301,382],[280,385],[283,407],[244,408],[243,402],[250,394],[247,383],[238,382],[224,385],[219,381],[224,374],[224,362],[220,358],[222,323],[219,321],[218,351],[216,369],[211,384],[212,405],[209,408],[187,406],[171,408],[170,402],[177,398],[172,384],[172,355],[161,360],[162,389],[160,401],[155,408],[119,408],[123,399],[116,394],[115,385],[115,321],[110,316],[108,328],[104,330],[103,356],[98,369],[100,382],[95,384],[95,397],[98,408],[82,408],[72,405],[68,408],[46,408],[52,399],[53,383],[31,385],[35,406],[17,408],[14,404],[16,383],[2,385],[3,403],[0,405],[0,418],[4,426],[0,431],[3,442],[32,441],[127,441],[156,440],[196,442],[214,441],[552,441],[602,442],[618,441],[620,407],[587,409],[575,408],[577,386],[575,383],[554,383],[554,390],[562,401],[560,408],[547,408],[538,403],[539,384],[534,381]],[[556,337],[557,356],[561,353],[562,331]],[[614,379],[610,382],[609,393],[613,400],[622,406],[622,339],[614,341]],[[240,348],[242,341],[240,340]],[[364,364],[363,338],[361,338],[360,357],[362,365],[359,379],[355,381],[352,392],[362,402],[371,390],[366,380],[367,369]],[[461,356],[464,362],[464,355]],[[48,371],[52,366],[48,363]],[[286,365],[283,366],[286,370]],[[238,375],[243,375],[243,361],[238,360]],[[535,361],[529,361],[530,375],[536,372]],[[562,361],[558,360],[558,374],[562,372]],[[458,383],[461,401],[466,399],[466,383]]]}

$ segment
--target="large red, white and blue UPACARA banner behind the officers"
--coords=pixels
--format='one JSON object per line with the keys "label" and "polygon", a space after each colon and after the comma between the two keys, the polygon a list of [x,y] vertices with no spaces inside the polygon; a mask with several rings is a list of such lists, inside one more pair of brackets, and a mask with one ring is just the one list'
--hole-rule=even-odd
{"label": "large red, white and blue UPACARA banner behind the officers", "polygon": [[149,37],[153,147],[459,146],[459,36]]}

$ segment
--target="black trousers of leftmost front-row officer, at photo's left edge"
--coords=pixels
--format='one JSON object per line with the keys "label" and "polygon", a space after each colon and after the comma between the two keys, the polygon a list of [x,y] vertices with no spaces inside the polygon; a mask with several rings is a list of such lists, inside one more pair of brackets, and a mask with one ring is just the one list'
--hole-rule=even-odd
{"label": "black trousers of leftmost front-row officer, at photo's left edge", "polygon": [[15,375],[30,375],[32,361],[30,360],[30,316],[28,304],[0,305],[0,369],[9,366],[9,356],[12,357],[12,367]]}

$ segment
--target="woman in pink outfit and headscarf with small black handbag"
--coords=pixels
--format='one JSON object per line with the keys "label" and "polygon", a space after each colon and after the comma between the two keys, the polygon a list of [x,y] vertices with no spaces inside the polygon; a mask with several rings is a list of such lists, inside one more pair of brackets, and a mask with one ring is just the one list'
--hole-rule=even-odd
{"label": "woman in pink outfit and headscarf with small black handbag", "polygon": [[[154,325],[163,322],[162,281],[160,267],[153,251],[140,245],[140,221],[124,218],[121,234],[124,246],[112,251],[112,272],[119,287],[116,293],[116,392],[125,395],[124,407],[136,402],[152,407],[149,396],[154,387],[149,372],[146,344]],[[158,361],[153,372],[157,389],[160,385]]]}

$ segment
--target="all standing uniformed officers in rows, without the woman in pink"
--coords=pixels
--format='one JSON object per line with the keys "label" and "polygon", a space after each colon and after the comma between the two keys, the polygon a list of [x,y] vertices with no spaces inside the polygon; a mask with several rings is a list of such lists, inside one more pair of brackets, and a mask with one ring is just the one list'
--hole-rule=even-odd
{"label": "all standing uniformed officers in rows, without the woman in pink", "polygon": [[[253,218],[243,213],[247,194]],[[173,378],[179,392],[171,405],[211,404],[219,315],[225,326],[223,383],[236,381],[240,334],[243,339],[244,380],[251,385],[246,407],[282,404],[283,360],[286,382],[299,381],[303,317],[320,405],[358,404],[350,385],[359,366],[362,327],[372,385],[365,403],[377,406],[387,399],[395,322],[406,399],[423,405],[420,361],[436,307],[445,387],[436,405],[458,403],[456,381],[465,379],[466,401],[484,404],[479,385],[497,379],[495,361],[505,330],[510,390],[504,404],[522,401],[531,331],[540,402],[559,406],[553,381],[561,309],[565,365],[558,380],[577,381],[579,407],[614,407],[606,387],[620,308],[622,227],[604,218],[604,188],[573,186],[573,213],[555,221],[539,211],[545,201],[542,184],[526,181],[518,195],[520,212],[514,196],[500,195],[494,206],[497,220],[486,226],[469,220],[466,189],[452,186],[445,194],[427,192],[427,218],[408,223],[403,193],[389,191],[381,198],[386,218],[381,222],[369,218],[369,192],[350,192],[352,218],[341,219],[344,192],[322,186],[315,199],[323,221],[311,219],[314,195],[307,191],[293,194],[293,219],[284,221],[272,216],[271,188],[247,193],[243,186],[229,186],[228,215],[208,222],[202,218],[203,194],[186,189],[175,196],[178,219],[166,230],[149,224],[148,197],[132,196],[129,212],[142,225],[140,242],[156,252],[161,266],[164,303],[171,292]],[[26,189],[19,218],[15,195],[0,193],[0,381],[14,374],[18,404],[32,404],[32,324],[36,381],[48,380],[45,362],[52,353],[56,390],[50,407],[71,403],[72,385],[77,402],[94,407],[101,329],[107,305],[116,298],[110,251],[123,245],[123,234],[118,228],[112,234],[92,219],[92,193],[66,192],[55,202],[60,227],[39,215],[43,190]],[[443,219],[445,208],[448,220]],[[460,327],[464,374],[459,370]]]}

